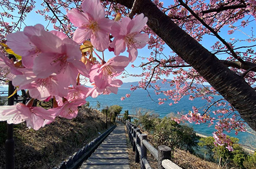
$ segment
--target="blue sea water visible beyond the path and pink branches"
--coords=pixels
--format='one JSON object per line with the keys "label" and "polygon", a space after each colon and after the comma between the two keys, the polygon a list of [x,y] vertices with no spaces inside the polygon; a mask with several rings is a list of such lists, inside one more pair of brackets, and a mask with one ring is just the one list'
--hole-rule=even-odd
{"label": "blue sea water visible beyond the path and pink branches", "polygon": [[[90,102],[90,106],[96,108],[97,101],[100,103],[100,109],[105,108],[110,105],[120,105],[122,107],[122,112],[125,110],[129,110],[129,114],[135,114],[136,111],[141,109],[141,112],[153,111],[156,114],[159,114],[160,118],[168,116],[168,114],[173,113],[177,114],[177,112],[187,113],[189,110],[193,110],[192,107],[195,106],[197,108],[203,108],[208,103],[206,100],[202,100],[201,98],[196,98],[193,101],[188,100],[188,96],[185,96],[181,101],[177,104],[169,105],[171,101],[166,101],[166,103],[162,105],[158,105],[158,98],[163,98],[163,96],[156,95],[153,89],[148,90],[150,93],[150,97],[148,96],[148,92],[142,89],[135,90],[131,93],[129,89],[118,90],[117,94],[111,93],[109,95],[100,95],[97,98],[87,98],[87,101]],[[121,97],[125,97],[126,94],[131,93],[129,98],[125,98],[125,100],[121,101]],[[221,96],[215,96],[215,100],[219,100],[222,98]],[[154,100],[154,101],[153,101]],[[156,101],[156,102],[155,102]],[[207,108],[207,107],[206,107]],[[216,109],[216,108],[215,108]],[[210,110],[215,110],[214,107],[210,108]],[[203,110],[199,111],[201,114]],[[214,125],[208,127],[208,124],[194,124],[194,123],[186,123],[194,128],[197,133],[212,136],[212,133],[215,131]],[[255,136],[248,132],[240,132],[238,135],[235,135],[234,132],[226,133],[230,136],[236,137],[240,140],[241,144],[245,145],[253,145],[256,147]],[[254,138],[253,138],[254,136]]]}

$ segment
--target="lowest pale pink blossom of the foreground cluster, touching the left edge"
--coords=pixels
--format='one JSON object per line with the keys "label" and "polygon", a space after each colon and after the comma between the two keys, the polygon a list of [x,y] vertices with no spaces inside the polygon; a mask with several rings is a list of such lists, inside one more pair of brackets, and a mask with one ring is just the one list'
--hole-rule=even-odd
{"label": "lowest pale pink blossom of the foreground cluster, touching the left edge", "polygon": [[[34,130],[39,130],[45,119],[54,120],[51,111],[40,107],[30,107],[23,103],[17,103],[13,106],[6,106],[7,110],[1,111],[0,121],[7,120],[7,123],[18,124],[26,121],[26,125]],[[1,108],[3,109],[3,108]]]}

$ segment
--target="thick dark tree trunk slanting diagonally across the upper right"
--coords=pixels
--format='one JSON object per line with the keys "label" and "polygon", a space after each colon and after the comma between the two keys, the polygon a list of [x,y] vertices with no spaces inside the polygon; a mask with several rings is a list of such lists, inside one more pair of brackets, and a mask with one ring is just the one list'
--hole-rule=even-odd
{"label": "thick dark tree trunk slanting diagonally across the upper right", "polygon": [[[115,0],[115,2],[131,8],[134,0]],[[150,0],[137,0],[136,12],[147,16],[147,25],[230,102],[256,131],[256,92],[242,77],[223,65]]]}

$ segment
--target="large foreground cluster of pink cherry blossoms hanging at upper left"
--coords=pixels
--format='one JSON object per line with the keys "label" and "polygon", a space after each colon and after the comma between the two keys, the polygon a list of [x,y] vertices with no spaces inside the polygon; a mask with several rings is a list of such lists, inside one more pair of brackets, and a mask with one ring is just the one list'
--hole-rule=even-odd
{"label": "large foreground cluster of pink cherry blossoms hanging at upper left", "polygon": [[[82,9],[83,12],[72,9],[67,14],[78,27],[73,40],[59,31],[45,31],[40,24],[7,36],[6,44],[22,59],[14,62],[0,53],[1,73],[12,80],[18,90],[29,90],[33,99],[26,105],[0,107],[0,121],[14,124],[26,121],[28,127],[39,130],[57,116],[75,118],[78,107],[86,103],[89,96],[117,93],[122,81],[116,77],[136,59],[137,49],[149,41],[147,34],[140,34],[147,18],[143,14],[119,21],[105,18],[98,0],[84,0]],[[90,50],[83,52],[80,45],[88,40]],[[103,52],[108,48],[115,57],[107,62],[94,51]],[[126,48],[129,56],[120,56]],[[99,61],[92,54],[97,55]],[[89,78],[93,88],[80,85],[79,76]],[[32,106],[34,99],[49,101],[51,98],[55,103],[52,109]]]}

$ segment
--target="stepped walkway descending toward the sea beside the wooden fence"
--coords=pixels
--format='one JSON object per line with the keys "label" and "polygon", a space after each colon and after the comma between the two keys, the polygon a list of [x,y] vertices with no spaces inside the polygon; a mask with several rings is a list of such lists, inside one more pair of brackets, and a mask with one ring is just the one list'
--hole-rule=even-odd
{"label": "stepped walkway descending toward the sea beside the wooden fence", "polygon": [[117,127],[80,168],[130,168],[124,123],[117,121]]}

